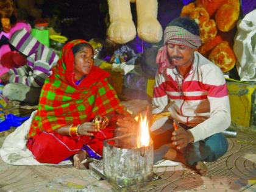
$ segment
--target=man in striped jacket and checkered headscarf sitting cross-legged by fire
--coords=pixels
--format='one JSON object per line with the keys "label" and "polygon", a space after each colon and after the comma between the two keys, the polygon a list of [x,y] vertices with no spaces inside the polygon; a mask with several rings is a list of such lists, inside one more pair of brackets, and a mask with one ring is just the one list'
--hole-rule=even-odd
{"label": "man in striped jacket and checkered headscarf sitting cross-legged by fire", "polygon": [[[221,69],[205,59],[199,27],[187,18],[177,18],[165,28],[158,51],[152,113],[171,116],[151,126],[155,162],[176,160],[204,174],[204,162],[216,161],[227,151],[221,132],[230,126],[230,106]],[[124,127],[123,120],[118,125]],[[175,130],[174,130],[175,127]]]}

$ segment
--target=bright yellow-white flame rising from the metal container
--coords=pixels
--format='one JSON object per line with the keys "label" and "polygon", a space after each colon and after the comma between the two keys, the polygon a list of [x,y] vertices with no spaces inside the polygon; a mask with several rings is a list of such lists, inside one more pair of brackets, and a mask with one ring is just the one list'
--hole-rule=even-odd
{"label": "bright yellow-white flame rising from the metal container", "polygon": [[140,114],[140,127],[137,135],[137,148],[149,146],[150,135],[149,135],[149,124],[147,116],[142,117]]}

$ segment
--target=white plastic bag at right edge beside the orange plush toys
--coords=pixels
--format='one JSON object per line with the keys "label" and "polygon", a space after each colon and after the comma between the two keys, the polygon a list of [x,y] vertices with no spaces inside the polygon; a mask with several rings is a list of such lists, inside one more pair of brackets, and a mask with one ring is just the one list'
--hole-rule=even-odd
{"label": "white plastic bag at right edge beside the orange plush toys", "polygon": [[256,80],[256,10],[238,21],[233,50],[240,80]]}

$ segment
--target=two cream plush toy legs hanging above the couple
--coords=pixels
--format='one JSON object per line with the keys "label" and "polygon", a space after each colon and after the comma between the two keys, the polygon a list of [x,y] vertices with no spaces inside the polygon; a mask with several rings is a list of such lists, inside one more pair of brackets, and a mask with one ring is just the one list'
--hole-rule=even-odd
{"label": "two cream plush toy legs hanging above the couple", "polygon": [[162,26],[157,21],[157,0],[108,0],[110,26],[107,38],[114,43],[124,44],[136,37],[130,10],[130,2],[135,1],[138,37],[149,43],[157,43],[163,35]]}

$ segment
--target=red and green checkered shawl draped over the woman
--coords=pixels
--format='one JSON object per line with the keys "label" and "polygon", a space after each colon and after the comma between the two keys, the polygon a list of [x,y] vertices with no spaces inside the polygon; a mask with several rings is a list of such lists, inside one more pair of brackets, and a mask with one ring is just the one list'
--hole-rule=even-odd
{"label": "red and green checkered shawl draped over the woman", "polygon": [[32,121],[29,137],[60,127],[91,121],[96,115],[117,112],[127,115],[113,87],[108,84],[108,73],[93,66],[90,74],[79,85],[74,83],[74,55],[71,48],[84,40],[65,45],[62,59],[45,80],[40,94],[38,112]]}

